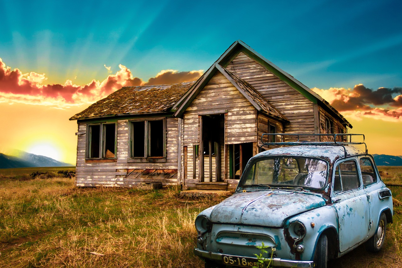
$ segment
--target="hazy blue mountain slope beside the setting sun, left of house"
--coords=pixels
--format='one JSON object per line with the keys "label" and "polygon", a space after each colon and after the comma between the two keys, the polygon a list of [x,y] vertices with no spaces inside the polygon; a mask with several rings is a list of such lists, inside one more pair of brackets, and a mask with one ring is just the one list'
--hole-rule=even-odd
{"label": "hazy blue mountain slope beside the setting sun, left of house", "polygon": [[21,150],[14,150],[12,155],[0,153],[0,168],[8,169],[15,167],[68,167],[69,163],[57,161],[43,155],[35,155]]}

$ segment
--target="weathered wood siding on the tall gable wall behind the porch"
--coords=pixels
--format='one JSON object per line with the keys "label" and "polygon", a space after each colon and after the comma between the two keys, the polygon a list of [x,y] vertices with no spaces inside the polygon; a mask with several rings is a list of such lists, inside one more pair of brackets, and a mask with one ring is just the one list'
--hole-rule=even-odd
{"label": "weathered wood siding on the tall gable wall behind the porch", "polygon": [[312,101],[242,52],[226,68],[250,83],[289,119],[285,133],[314,134]]}

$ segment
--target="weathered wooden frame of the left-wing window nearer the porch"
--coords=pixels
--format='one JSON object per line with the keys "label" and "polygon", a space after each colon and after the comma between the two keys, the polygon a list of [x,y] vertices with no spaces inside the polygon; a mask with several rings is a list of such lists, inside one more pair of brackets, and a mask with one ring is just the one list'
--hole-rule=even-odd
{"label": "weathered wooden frame of the left-wing window nearer the porch", "polygon": [[[163,128],[163,156],[150,156],[150,136],[148,135],[150,130],[151,121],[162,121]],[[134,157],[133,156],[133,122],[144,122],[144,157]],[[137,118],[133,120],[129,120],[129,158],[127,162],[135,163],[135,162],[166,162],[166,117],[158,117],[158,118]]]}

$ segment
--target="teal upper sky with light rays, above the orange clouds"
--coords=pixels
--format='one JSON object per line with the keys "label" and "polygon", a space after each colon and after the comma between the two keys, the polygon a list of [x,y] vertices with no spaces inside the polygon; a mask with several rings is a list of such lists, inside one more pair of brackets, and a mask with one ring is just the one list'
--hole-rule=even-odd
{"label": "teal upper sky with light rays, above the orange clouds", "polygon": [[401,1],[5,1],[0,58],[77,85],[207,70],[237,39],[306,86],[402,87]]}

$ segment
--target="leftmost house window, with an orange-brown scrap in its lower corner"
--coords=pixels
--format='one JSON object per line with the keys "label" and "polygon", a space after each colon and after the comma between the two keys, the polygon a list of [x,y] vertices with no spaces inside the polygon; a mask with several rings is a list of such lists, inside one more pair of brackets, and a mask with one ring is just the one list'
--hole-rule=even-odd
{"label": "leftmost house window, with an orange-brown scrap in its lower corner", "polygon": [[88,125],[87,158],[115,158],[116,124]]}

